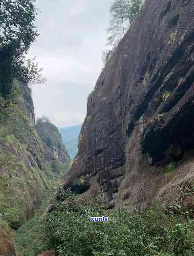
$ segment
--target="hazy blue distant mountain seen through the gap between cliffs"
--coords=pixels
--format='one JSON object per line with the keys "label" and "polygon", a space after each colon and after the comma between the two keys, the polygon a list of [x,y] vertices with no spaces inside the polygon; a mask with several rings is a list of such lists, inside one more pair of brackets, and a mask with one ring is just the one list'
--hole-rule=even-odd
{"label": "hazy blue distant mountain seen through the gap between cliffs", "polygon": [[71,159],[73,159],[77,153],[78,137],[81,128],[82,125],[59,128],[59,132],[62,136],[62,141],[65,144],[65,147],[68,150]]}

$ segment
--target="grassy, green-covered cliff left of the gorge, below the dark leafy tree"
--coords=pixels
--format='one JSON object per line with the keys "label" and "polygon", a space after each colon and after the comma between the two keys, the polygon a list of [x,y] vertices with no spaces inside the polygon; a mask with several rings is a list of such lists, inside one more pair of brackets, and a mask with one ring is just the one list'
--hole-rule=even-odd
{"label": "grassy, green-covered cliff left of the gorge, below the dark leafy tree", "polygon": [[[52,179],[59,179],[69,165],[69,156],[57,128],[51,144],[57,141],[58,157],[49,148],[34,124],[31,90],[14,82],[12,99],[1,97],[0,107],[0,226],[7,221],[13,229],[34,215]],[[45,131],[49,126],[45,127]],[[49,155],[49,157],[48,157]],[[60,168],[54,168],[56,161]]]}

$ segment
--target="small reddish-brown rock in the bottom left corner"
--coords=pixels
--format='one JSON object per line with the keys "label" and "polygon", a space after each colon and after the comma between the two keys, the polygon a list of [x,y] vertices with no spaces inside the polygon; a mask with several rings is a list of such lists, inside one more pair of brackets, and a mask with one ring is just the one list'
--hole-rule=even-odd
{"label": "small reddish-brown rock in the bottom left corner", "polygon": [[1,256],[16,256],[16,251],[11,239],[0,228],[0,255]]}

